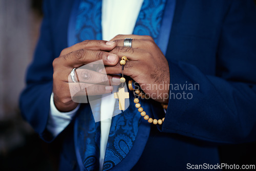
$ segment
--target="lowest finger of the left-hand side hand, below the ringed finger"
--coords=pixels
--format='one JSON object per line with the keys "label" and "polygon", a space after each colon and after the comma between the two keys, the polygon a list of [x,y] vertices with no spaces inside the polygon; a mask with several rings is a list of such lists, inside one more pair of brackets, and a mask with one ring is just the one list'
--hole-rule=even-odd
{"label": "lowest finger of the left-hand side hand, below the ringed finger", "polygon": [[90,84],[83,82],[69,82],[70,95],[74,96],[92,96],[111,93],[113,86],[104,86],[101,84]]}

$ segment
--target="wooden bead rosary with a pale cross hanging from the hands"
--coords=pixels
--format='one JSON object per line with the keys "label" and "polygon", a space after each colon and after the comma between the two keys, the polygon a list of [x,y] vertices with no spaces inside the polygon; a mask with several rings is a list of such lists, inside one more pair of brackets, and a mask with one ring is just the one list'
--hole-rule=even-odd
{"label": "wooden bead rosary with a pale cross hanging from the hands", "polygon": [[[118,92],[117,93],[114,93],[114,97],[117,98],[119,100],[119,110],[124,110],[125,107],[124,107],[124,102],[125,102],[125,99],[126,98],[129,98],[129,93],[128,92],[125,92],[124,91],[124,87],[123,87],[123,83],[125,82],[125,78],[123,77],[123,69],[124,69],[124,65],[125,65],[125,62],[127,61],[127,57],[126,56],[123,56],[121,58],[121,61],[120,61],[120,65],[122,66],[122,77],[120,78],[120,82],[122,82],[122,87],[118,89]],[[140,91],[139,89],[135,90],[135,87],[134,87],[134,84],[133,84],[133,81],[132,80],[129,80],[129,83],[128,83],[128,86],[129,86],[129,90],[131,91],[135,91],[135,93],[141,97],[141,98],[144,98],[146,95]],[[153,118],[150,118],[148,115],[146,115],[146,112],[143,111],[143,108],[141,107],[141,104],[139,103],[139,99],[138,98],[135,98],[134,99],[134,103],[135,103],[135,107],[138,108],[138,111],[140,112],[140,115],[145,119],[147,120],[149,123],[152,123],[153,124],[159,124],[161,125],[164,121],[164,118],[162,119],[153,119]],[[163,109],[167,110],[167,107],[168,105],[167,104],[162,104],[162,107]]]}

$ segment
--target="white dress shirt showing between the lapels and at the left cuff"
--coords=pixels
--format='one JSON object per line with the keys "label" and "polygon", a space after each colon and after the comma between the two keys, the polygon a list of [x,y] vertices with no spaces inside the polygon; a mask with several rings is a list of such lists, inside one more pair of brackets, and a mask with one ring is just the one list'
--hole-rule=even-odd
{"label": "white dress shirt showing between the lapels and at the left cuff", "polygon": [[[118,34],[132,34],[137,17],[139,15],[143,0],[102,0],[102,39],[110,40]],[[53,93],[50,100],[50,114],[47,123],[47,129],[56,137],[71,122],[79,106],[71,112],[59,112],[53,102]],[[113,113],[115,100],[113,96],[105,96],[101,100],[100,115],[109,115]],[[111,106],[111,109],[110,109]],[[100,136],[100,170],[102,170],[106,144],[108,142],[111,118],[101,121]]]}

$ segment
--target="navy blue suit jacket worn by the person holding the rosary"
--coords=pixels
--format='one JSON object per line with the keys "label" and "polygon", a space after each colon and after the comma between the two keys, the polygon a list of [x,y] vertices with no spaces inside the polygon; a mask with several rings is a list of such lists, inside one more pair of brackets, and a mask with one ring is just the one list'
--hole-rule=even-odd
{"label": "navy blue suit jacket worn by the person holding the rosary", "polygon": [[[48,142],[52,61],[67,47],[72,5],[71,0],[45,1],[41,35],[20,97],[24,118]],[[252,1],[178,0],[165,55],[170,83],[197,83],[200,90],[193,91],[190,100],[169,99],[165,121],[151,126],[142,154],[132,148],[130,153],[137,156],[130,155],[113,170],[185,170],[187,163],[217,164],[220,144],[255,141],[255,30]],[[159,117],[159,104],[151,105],[154,117]],[[82,106],[79,112],[83,110]],[[60,170],[78,170],[73,122],[57,139],[62,148]]]}

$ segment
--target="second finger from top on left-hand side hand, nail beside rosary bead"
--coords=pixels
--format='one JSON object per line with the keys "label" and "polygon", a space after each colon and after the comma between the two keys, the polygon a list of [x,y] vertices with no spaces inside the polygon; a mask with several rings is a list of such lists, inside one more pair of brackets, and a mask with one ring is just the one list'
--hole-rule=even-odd
{"label": "second finger from top on left-hand side hand, nail beside rosary bead", "polygon": [[[118,62],[118,56],[109,52],[90,50],[90,49],[80,49],[63,55],[60,59],[64,59],[66,65],[72,68],[78,68],[82,65],[101,60],[104,65],[114,66]],[[56,62],[56,61],[55,61]]]}

